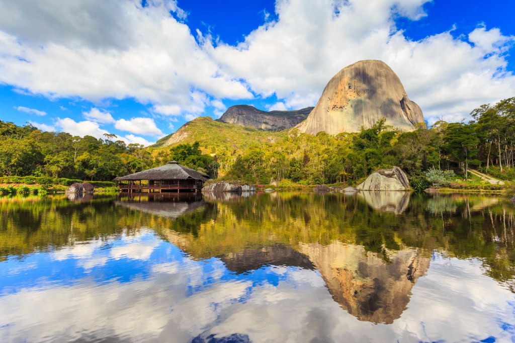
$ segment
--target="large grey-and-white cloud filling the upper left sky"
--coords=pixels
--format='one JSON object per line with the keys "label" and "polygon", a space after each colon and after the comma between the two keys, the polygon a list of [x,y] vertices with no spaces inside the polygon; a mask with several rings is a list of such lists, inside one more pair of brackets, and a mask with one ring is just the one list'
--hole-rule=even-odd
{"label": "large grey-and-white cloud filling the upper left sky", "polygon": [[0,0],[0,81],[47,97],[133,97],[203,111],[197,93],[249,98],[178,22],[175,1]]}

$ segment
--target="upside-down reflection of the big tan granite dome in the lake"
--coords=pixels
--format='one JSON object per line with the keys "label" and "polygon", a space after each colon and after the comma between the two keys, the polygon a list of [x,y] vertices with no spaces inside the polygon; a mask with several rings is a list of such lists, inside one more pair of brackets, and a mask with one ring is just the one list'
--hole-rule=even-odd
{"label": "upside-down reflection of the big tan granite dome in the lake", "polygon": [[339,242],[300,246],[320,271],[333,298],[359,320],[392,323],[406,309],[411,288],[429,268],[417,249],[391,252],[390,263],[363,246]]}

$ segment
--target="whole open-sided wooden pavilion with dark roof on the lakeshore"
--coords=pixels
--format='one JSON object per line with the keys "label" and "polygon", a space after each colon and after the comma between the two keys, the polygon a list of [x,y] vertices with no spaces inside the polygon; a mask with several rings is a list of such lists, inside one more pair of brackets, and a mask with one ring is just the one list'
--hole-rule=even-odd
{"label": "whole open-sided wooden pavilion with dark roof on the lakeshore", "polygon": [[209,176],[176,161],[114,179],[120,192],[199,192]]}

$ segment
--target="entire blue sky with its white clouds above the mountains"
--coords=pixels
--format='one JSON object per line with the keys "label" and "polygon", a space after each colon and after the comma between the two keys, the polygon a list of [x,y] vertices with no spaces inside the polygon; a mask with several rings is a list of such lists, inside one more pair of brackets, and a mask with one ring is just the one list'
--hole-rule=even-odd
{"label": "entire blue sky with its white clouds above the mountains", "polygon": [[0,0],[0,119],[148,145],[381,59],[431,123],[514,96],[512,1]]}

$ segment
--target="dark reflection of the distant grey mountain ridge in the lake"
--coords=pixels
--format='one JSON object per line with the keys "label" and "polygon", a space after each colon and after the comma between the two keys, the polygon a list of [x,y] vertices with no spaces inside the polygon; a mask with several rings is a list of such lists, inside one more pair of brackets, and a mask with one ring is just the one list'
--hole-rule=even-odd
{"label": "dark reflection of the distant grey mountain ridge in the lake", "polygon": [[313,263],[303,254],[284,245],[264,246],[258,249],[246,249],[220,256],[227,269],[243,273],[259,269],[264,265],[295,266],[315,269]]}

